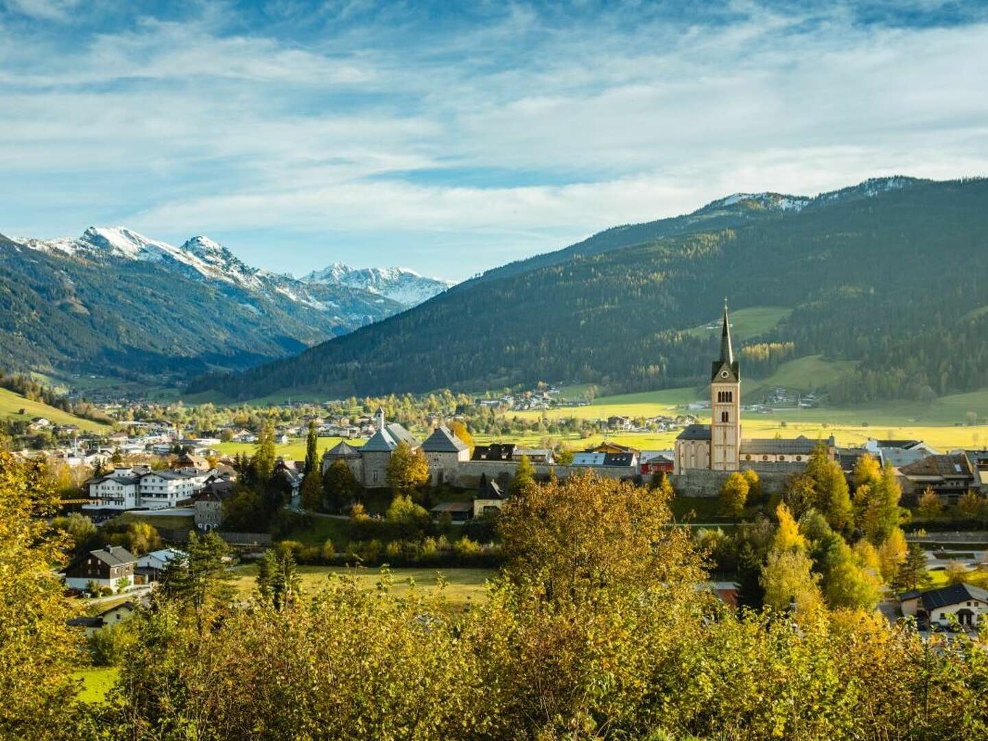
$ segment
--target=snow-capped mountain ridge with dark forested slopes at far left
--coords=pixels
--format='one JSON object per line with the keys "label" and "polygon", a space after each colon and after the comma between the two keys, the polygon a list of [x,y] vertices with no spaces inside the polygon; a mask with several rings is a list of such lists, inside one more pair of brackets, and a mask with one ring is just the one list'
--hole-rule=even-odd
{"label": "snow-capped mountain ridge with dark forested slopes at far left", "polygon": [[179,382],[294,354],[403,308],[252,268],[205,236],[176,247],[125,227],[0,235],[0,350],[12,371]]}

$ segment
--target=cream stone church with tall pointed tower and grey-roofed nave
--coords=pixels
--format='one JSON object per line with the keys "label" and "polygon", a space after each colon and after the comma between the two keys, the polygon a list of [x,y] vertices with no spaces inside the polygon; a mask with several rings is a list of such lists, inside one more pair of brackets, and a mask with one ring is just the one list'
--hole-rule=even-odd
{"label": "cream stone church with tall pointed tower and grey-roofed nave", "polygon": [[831,457],[836,454],[833,437],[825,441],[803,436],[788,440],[741,437],[741,365],[734,357],[727,299],[724,299],[720,357],[710,367],[710,424],[690,425],[680,433],[673,472],[742,468],[796,472],[806,466],[806,460],[820,442]]}

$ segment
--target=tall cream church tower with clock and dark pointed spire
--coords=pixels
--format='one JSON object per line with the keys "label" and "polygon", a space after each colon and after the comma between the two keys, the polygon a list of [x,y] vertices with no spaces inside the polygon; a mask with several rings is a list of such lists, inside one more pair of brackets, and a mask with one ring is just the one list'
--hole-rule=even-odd
{"label": "tall cream church tower with clock and dark pointed spire", "polygon": [[720,358],[710,371],[710,468],[736,471],[741,459],[741,369],[734,360],[724,299]]}

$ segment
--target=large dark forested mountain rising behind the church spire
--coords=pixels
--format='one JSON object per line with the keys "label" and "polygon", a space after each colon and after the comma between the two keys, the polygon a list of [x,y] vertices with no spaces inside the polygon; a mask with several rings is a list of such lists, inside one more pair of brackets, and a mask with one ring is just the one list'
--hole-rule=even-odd
{"label": "large dark forested mountain rising behind the church spire", "polygon": [[[584,381],[700,384],[733,309],[781,307],[744,340],[746,377],[848,361],[838,401],[988,385],[988,181],[865,181],[815,198],[737,194],[490,271],[409,310],[194,390],[329,396]],[[808,379],[814,384],[814,379]]]}

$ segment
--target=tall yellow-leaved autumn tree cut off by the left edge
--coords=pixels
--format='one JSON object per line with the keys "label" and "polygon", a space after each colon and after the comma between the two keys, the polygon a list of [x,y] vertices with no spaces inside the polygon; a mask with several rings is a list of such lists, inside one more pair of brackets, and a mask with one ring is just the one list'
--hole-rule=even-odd
{"label": "tall yellow-leaved autumn tree cut off by the left edge", "polygon": [[58,497],[36,461],[0,451],[0,738],[68,736],[80,636],[56,574],[72,539],[48,520]]}

